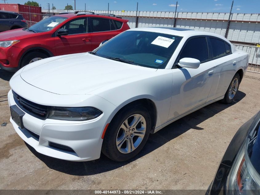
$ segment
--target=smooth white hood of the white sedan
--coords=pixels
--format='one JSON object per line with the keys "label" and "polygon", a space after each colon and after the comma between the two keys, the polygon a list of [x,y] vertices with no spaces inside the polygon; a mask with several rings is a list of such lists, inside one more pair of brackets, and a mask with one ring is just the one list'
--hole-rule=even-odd
{"label": "smooth white hood of the white sedan", "polygon": [[122,63],[89,53],[56,56],[27,65],[20,76],[27,83],[61,95],[91,94],[98,88],[131,82],[157,69]]}

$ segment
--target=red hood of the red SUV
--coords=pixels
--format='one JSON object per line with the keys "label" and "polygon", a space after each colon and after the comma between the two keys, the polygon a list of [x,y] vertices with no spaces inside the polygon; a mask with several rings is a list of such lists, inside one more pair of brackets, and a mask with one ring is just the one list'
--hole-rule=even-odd
{"label": "red hood of the red SUV", "polygon": [[25,38],[27,36],[31,36],[34,34],[33,32],[28,32],[26,30],[15,29],[15,30],[7,30],[0,33],[0,41],[9,41],[9,40],[19,40],[21,36]]}

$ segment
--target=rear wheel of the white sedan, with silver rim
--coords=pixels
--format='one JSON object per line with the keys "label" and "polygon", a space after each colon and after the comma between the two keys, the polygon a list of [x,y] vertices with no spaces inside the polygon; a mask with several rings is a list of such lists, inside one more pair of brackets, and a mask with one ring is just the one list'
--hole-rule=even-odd
{"label": "rear wheel of the white sedan, with silver rim", "polygon": [[240,84],[240,76],[238,73],[236,73],[226,91],[222,103],[224,104],[232,103],[232,101],[235,99],[235,96],[237,94],[239,84]]}

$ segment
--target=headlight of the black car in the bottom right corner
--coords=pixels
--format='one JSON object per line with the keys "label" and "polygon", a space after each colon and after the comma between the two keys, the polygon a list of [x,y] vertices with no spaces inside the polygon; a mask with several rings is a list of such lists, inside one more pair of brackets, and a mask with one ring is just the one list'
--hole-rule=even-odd
{"label": "headlight of the black car in the bottom right corner", "polygon": [[246,144],[238,152],[227,177],[226,189],[228,195],[260,194],[260,177],[249,159]]}

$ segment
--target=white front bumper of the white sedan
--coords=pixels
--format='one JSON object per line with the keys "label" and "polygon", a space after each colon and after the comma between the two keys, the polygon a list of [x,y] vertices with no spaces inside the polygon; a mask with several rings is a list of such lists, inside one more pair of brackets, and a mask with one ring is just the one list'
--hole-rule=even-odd
{"label": "white front bumper of the white sedan", "polygon": [[[16,105],[11,90],[8,93],[8,102],[10,106]],[[105,113],[87,122],[41,120],[25,113],[22,118],[25,128],[21,129],[10,118],[18,135],[37,152],[70,161],[87,161],[100,157],[103,141],[101,137],[107,120],[109,119]],[[69,147],[73,151],[53,147],[50,143]]]}

